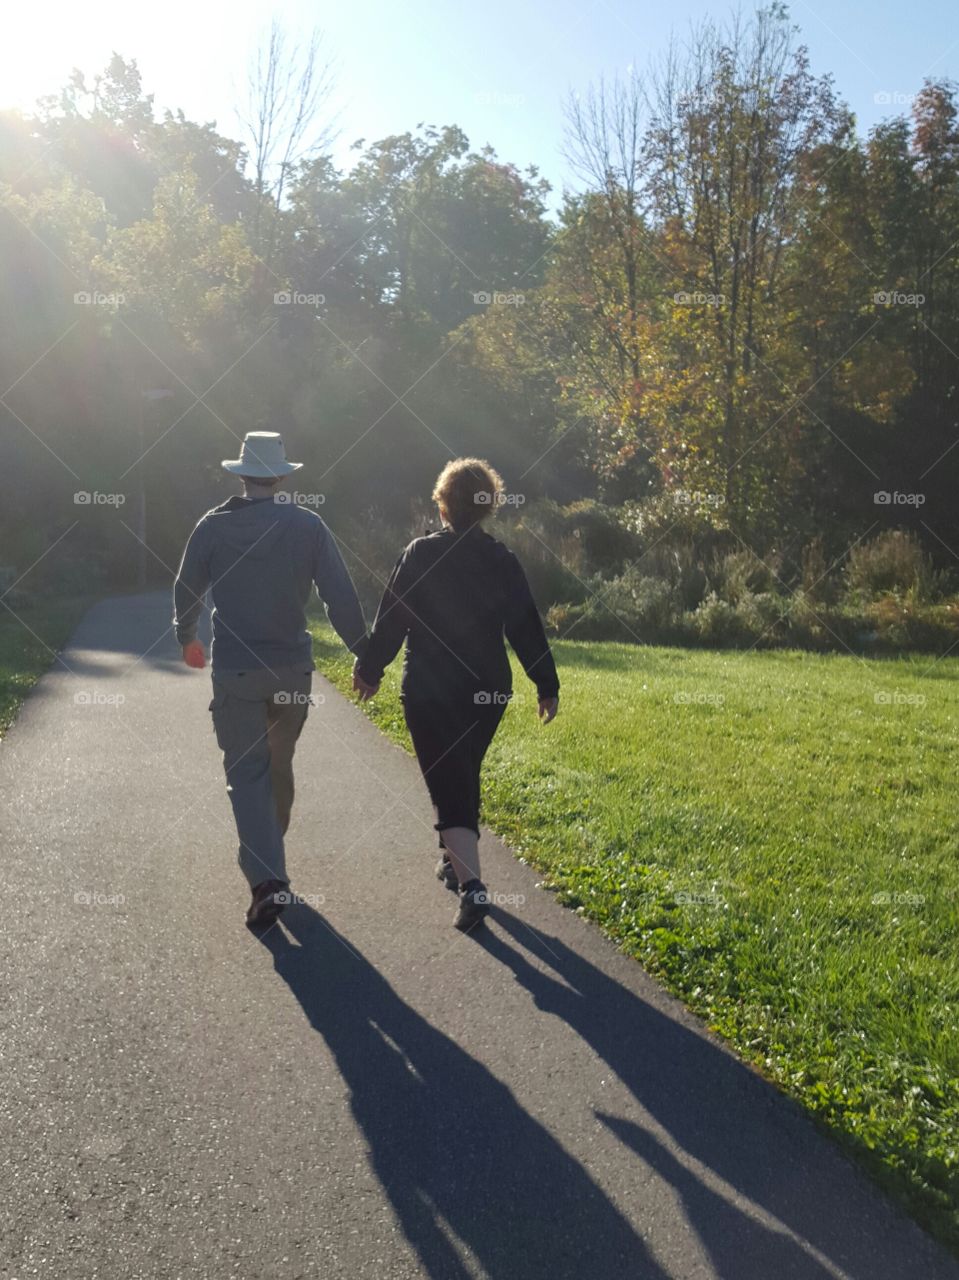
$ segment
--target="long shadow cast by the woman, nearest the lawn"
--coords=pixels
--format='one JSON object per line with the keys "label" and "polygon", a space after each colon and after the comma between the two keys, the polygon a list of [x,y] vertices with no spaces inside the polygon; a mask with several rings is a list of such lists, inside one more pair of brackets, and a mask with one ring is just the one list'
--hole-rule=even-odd
{"label": "long shadow cast by the woman, nearest the lawn", "polygon": [[[827,1164],[818,1143],[810,1149],[804,1117],[767,1080],[638,998],[560,938],[498,908],[493,919],[494,927],[478,931],[476,941],[512,970],[538,1009],[563,1019],[608,1064],[682,1151],[834,1266],[869,1280],[901,1280],[909,1274],[910,1242],[901,1226],[886,1213],[887,1238],[878,1245],[876,1239],[863,1240],[855,1226],[874,1221],[874,1204],[841,1158]],[[530,955],[556,977],[543,973]],[[690,1228],[718,1275],[735,1280],[835,1275],[791,1236],[709,1189],[652,1132],[597,1115],[679,1192]],[[809,1157],[813,1167],[802,1164]]]}

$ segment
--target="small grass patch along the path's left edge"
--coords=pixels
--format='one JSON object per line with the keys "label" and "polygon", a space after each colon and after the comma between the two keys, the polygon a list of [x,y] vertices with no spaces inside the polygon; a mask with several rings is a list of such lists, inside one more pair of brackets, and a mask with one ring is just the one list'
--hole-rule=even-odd
{"label": "small grass patch along the path's left edge", "polygon": [[88,605],[86,596],[15,599],[14,616],[0,604],[0,737]]}

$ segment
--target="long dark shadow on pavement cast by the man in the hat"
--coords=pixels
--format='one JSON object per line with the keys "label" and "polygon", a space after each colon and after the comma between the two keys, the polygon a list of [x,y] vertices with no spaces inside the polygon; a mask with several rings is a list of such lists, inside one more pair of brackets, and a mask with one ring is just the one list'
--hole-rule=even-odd
{"label": "long dark shadow on pavement cast by the man in the hat", "polygon": [[261,941],[334,1055],[376,1176],[433,1280],[471,1275],[449,1234],[492,1280],[668,1280],[585,1169],[347,938],[302,902],[283,927],[293,942],[280,927]]}

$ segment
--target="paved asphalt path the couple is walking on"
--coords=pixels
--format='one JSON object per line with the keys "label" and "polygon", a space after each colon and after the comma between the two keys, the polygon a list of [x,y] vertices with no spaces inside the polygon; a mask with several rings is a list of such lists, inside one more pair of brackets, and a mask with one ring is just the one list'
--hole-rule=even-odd
{"label": "paved asphalt path the couple is walking on", "polygon": [[456,933],[414,762],[319,677],[309,901],[247,932],[168,616],[97,605],[0,745],[0,1276],[959,1277],[492,836]]}

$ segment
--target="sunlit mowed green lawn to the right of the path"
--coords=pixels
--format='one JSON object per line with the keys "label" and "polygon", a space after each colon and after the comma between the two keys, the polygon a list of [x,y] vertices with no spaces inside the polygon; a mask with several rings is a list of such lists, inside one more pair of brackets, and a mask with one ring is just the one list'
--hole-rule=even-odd
{"label": "sunlit mowed green lawn to the right of the path", "polygon": [[[556,655],[548,727],[516,669],[484,820],[959,1245],[959,660]],[[398,675],[367,709],[408,749]]]}

